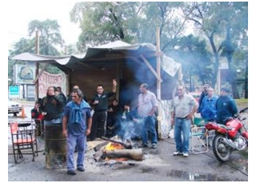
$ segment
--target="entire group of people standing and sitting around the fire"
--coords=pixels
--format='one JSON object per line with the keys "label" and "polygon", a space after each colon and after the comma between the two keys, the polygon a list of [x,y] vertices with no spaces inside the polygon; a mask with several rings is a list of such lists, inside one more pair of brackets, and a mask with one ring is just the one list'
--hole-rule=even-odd
{"label": "entire group of people standing and sitting around the fire", "polygon": [[[62,133],[67,139],[67,173],[75,175],[78,171],[85,171],[84,158],[86,141],[96,137],[118,134],[126,138],[137,135],[142,140],[142,147],[157,148],[158,135],[155,128],[155,113],[158,101],[148,84],[139,86],[138,103],[134,110],[126,104],[123,109],[114,99],[109,105],[110,97],[114,97],[118,83],[114,79],[112,91],[105,92],[102,85],[96,87],[96,93],[90,100],[75,86],[68,97],[54,86],[47,89],[46,97],[37,101],[31,110],[33,118],[44,121],[44,125],[62,125]],[[214,95],[214,89],[204,87],[202,97],[197,102],[194,97],[186,93],[183,86],[178,86],[178,95],[172,101],[171,123],[174,125],[174,140],[176,151],[174,155],[182,154],[188,157],[190,125],[194,113],[201,113],[205,121],[217,121],[225,125],[226,117],[233,117],[238,113],[234,100],[228,95],[227,89],[222,89],[219,97]],[[110,131],[112,132],[110,133]],[[114,131],[113,131],[114,130]],[[150,137],[150,139],[149,139]],[[78,158],[74,163],[74,152]]]}

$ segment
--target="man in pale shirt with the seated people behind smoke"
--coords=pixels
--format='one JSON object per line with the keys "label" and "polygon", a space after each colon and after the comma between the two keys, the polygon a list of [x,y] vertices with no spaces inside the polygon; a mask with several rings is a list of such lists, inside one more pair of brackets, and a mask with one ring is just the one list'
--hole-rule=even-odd
{"label": "man in pale shirt with the seated people behind smoke", "polygon": [[157,110],[157,99],[150,92],[149,86],[142,83],[139,88],[138,104],[131,109],[129,103],[123,107],[118,105],[114,99],[107,110],[106,137],[118,135],[123,141],[130,139],[141,139],[142,147],[148,147],[148,134],[153,149],[157,148],[157,132],[155,128],[155,112]]}

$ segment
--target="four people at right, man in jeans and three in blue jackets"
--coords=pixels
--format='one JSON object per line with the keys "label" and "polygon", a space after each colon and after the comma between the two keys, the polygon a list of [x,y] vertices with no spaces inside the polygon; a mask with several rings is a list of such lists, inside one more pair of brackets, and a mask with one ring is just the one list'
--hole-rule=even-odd
{"label": "four people at right, man in jeans and three in blue jackets", "polygon": [[218,97],[207,84],[203,86],[198,102],[186,93],[183,86],[178,86],[178,96],[174,97],[172,107],[171,123],[174,125],[176,144],[174,156],[189,156],[190,125],[193,123],[194,113],[200,113],[205,123],[215,121],[222,125],[226,125],[229,117],[238,114],[238,108],[228,89],[222,88]]}

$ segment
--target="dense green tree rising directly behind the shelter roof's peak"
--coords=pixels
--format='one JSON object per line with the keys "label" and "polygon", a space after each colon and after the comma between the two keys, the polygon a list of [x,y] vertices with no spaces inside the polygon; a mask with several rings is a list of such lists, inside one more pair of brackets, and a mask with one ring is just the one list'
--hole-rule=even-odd
{"label": "dense green tree rising directly behind the shelter roof's peak", "polygon": [[78,2],[70,13],[71,21],[79,22],[82,34],[78,50],[88,46],[123,40],[131,42],[133,32],[129,28],[137,5],[142,2]]}

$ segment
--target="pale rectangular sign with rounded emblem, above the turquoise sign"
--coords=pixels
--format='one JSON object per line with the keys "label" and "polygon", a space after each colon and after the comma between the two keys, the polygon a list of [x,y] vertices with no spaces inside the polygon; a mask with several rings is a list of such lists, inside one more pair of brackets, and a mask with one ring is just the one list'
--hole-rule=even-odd
{"label": "pale rectangular sign with rounded emblem, above the turquoise sign", "polygon": [[33,84],[35,79],[35,66],[15,65],[14,83],[15,84]]}

